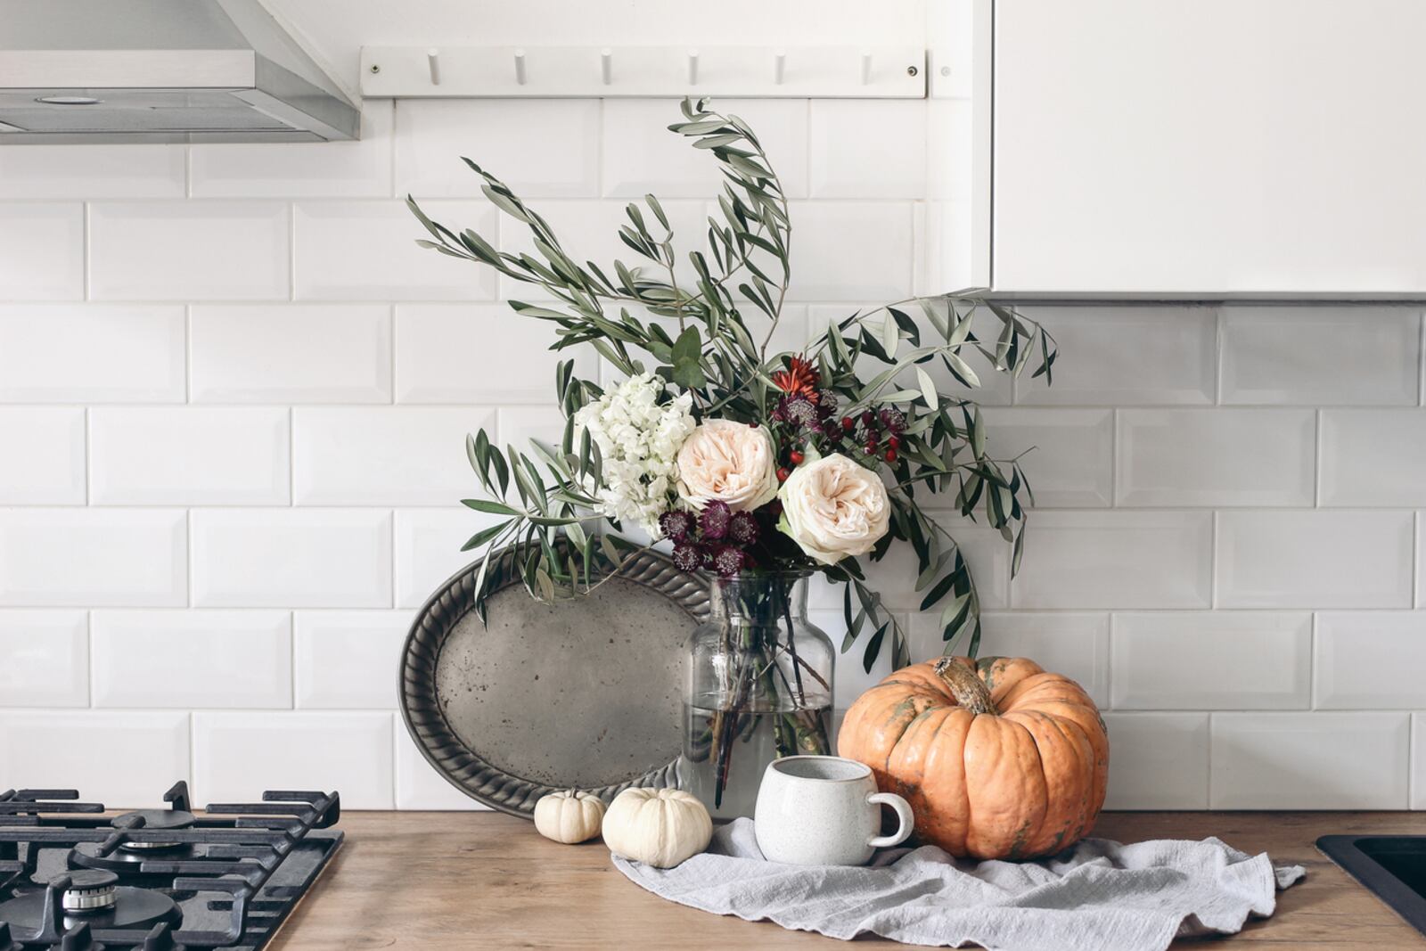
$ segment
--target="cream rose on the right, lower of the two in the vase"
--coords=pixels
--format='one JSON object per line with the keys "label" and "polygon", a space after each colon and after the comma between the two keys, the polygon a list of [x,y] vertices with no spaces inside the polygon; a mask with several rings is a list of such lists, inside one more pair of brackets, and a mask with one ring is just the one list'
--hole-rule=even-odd
{"label": "cream rose on the right, lower of the two in the vase", "polygon": [[786,516],[783,530],[823,565],[870,552],[891,518],[877,473],[840,453],[797,466],[777,498]]}

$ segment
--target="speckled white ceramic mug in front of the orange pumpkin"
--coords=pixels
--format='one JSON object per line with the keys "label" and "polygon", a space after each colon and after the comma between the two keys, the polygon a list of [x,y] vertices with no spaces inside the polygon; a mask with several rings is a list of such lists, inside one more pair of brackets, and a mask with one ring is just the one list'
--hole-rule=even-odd
{"label": "speckled white ceramic mug in front of the orange pumpkin", "polygon": [[[901,820],[881,831],[881,804]],[[757,847],[789,865],[866,865],[877,848],[900,845],[915,820],[896,793],[878,793],[871,767],[840,756],[789,756],[763,773],[753,814]]]}

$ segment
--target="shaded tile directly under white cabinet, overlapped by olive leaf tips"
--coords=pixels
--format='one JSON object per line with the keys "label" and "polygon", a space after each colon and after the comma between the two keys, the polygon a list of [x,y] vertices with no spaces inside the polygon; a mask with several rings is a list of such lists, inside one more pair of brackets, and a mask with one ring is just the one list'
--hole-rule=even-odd
{"label": "shaded tile directly under white cabinet, overlapped by olive leaf tips", "polygon": [[1216,379],[1218,317],[1206,307],[1021,307],[1055,338],[1054,385],[1020,378],[1015,402],[1208,405]]}

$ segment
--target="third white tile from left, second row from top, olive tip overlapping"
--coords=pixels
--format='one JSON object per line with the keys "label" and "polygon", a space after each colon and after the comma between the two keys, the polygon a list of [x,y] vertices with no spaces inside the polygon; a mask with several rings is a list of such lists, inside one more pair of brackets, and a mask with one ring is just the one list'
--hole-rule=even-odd
{"label": "third white tile from left, second row from top, olive tip overlapping", "polygon": [[[488,234],[491,205],[432,201],[432,220]],[[485,265],[459,261],[416,241],[431,234],[404,201],[299,201],[292,207],[294,295],[299,301],[479,301],[495,297]]]}

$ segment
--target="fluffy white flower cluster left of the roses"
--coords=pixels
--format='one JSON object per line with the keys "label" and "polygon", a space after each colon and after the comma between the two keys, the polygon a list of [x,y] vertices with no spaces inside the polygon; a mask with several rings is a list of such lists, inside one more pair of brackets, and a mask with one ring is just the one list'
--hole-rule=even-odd
{"label": "fluffy white flower cluster left of the roses", "polygon": [[575,413],[575,425],[589,432],[603,458],[600,515],[639,525],[656,539],[659,516],[674,502],[679,449],[696,425],[690,394],[660,406],[662,395],[663,381],[640,374]]}

